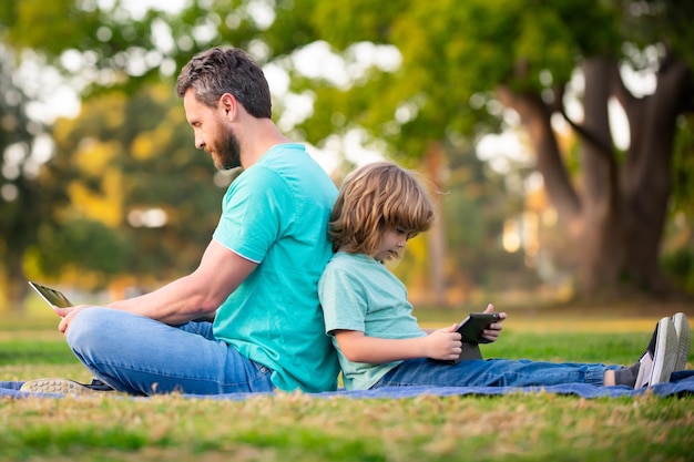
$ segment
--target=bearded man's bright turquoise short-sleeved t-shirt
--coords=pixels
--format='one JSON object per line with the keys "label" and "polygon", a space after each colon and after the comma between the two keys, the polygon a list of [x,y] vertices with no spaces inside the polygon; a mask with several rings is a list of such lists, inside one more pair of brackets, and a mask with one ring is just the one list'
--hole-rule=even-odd
{"label": "bearded man's bright turquoise short-sleeved t-shirt", "polygon": [[272,147],[229,186],[213,238],[256,269],[217,309],[215,338],[273,369],[280,390],[334,390],[339,365],[317,285],[337,188],[300,144]]}

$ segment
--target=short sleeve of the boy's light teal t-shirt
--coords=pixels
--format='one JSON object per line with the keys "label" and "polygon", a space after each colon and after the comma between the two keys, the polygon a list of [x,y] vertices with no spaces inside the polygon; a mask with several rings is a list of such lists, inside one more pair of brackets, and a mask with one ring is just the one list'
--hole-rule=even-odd
{"label": "short sleeve of the boy's light teal t-shirt", "polygon": [[368,302],[351,275],[328,264],[318,284],[318,297],[327,335],[333,336],[336,330],[366,331]]}

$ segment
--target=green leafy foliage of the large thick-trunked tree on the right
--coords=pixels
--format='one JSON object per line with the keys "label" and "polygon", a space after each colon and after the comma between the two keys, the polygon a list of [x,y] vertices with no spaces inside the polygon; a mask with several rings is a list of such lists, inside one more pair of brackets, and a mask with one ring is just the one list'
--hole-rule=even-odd
{"label": "green leafy foliage of the large thick-trunked tree on the right", "polygon": [[[684,24],[694,11],[681,1],[404,1],[385,9],[380,22],[360,1],[322,8],[327,12],[313,17],[314,27],[343,57],[349,57],[353,43],[374,41],[397,48],[402,63],[394,72],[375,68],[349,89],[322,86],[303,131],[317,127],[320,136],[359,125],[385,140],[384,151],[398,160],[422,161],[432,145],[502,130],[508,113],[496,101],[500,89],[531,95],[527,101],[541,106],[535,116],[545,114],[549,121],[562,102],[557,95],[589,60],[634,62],[636,48],[642,59],[651,57],[636,69],[653,70],[669,47],[674,60],[693,55],[683,40],[691,37]],[[683,113],[694,107],[692,94],[678,109]],[[351,124],[330,125],[335,120]],[[540,124],[532,122],[529,126]],[[545,184],[557,184],[561,175],[553,175]]]}

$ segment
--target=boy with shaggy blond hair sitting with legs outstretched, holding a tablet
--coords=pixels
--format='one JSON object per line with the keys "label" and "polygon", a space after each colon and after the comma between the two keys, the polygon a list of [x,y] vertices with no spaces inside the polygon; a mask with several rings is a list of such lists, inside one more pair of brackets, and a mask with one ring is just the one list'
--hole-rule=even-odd
{"label": "boy with shaggy blond hair sitting with legs outstretched, holding a tablet", "polygon": [[[384,265],[399,258],[406,242],[426,232],[433,219],[423,187],[410,172],[392,163],[368,164],[343,184],[329,224],[337,253],[323,273],[318,296],[346,389],[576,382],[635,388],[666,382],[675,367],[684,367],[690,328],[683,314],[657,324],[646,351],[652,367],[641,368],[641,361],[629,368],[506,359],[443,362],[461,353],[457,327],[429,332],[419,328],[405,286]],[[501,332],[506,314],[499,315],[500,321],[484,330],[489,341]]]}

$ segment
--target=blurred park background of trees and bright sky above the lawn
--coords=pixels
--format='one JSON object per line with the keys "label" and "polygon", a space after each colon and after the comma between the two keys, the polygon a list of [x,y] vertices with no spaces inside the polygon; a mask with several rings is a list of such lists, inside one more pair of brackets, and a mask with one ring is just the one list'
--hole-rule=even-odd
{"label": "blurred park background of trees and bright sky above the lawn", "polygon": [[263,66],[337,185],[381,157],[427,178],[440,219],[392,268],[416,305],[687,300],[693,23],[686,0],[0,0],[0,311],[27,279],[106,301],[196,267],[233,172],[174,85],[213,45]]}

